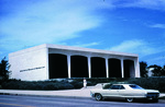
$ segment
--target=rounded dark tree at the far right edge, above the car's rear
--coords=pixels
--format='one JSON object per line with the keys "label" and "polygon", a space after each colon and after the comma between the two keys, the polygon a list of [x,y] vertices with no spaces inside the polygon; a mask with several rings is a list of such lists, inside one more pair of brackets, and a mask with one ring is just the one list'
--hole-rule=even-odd
{"label": "rounded dark tree at the far right edge, above the car's rear", "polygon": [[164,69],[162,67],[154,64],[154,66],[150,66],[148,68],[153,69],[152,70],[153,76],[163,76]]}

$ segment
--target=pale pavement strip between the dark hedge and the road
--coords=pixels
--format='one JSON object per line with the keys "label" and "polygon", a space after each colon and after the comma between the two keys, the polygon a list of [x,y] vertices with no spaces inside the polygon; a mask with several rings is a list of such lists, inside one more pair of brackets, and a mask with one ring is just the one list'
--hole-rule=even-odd
{"label": "pale pavement strip between the dark hedge and the road", "polygon": [[[63,90],[63,91],[22,91],[22,90],[0,90],[1,95],[33,95],[33,96],[61,96],[61,97],[81,97],[90,98],[90,90],[101,88],[100,85],[87,86],[80,90]],[[165,97],[161,93],[160,97]]]}

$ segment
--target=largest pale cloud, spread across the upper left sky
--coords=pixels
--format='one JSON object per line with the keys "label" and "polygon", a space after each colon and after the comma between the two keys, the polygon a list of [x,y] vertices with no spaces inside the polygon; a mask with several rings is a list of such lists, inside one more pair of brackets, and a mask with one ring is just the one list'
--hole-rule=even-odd
{"label": "largest pale cloud, spread across the upper left sky", "polygon": [[21,1],[21,5],[11,0],[10,3],[12,10],[3,7],[7,14],[0,19],[0,43],[3,43],[6,49],[11,46],[20,48],[61,43],[79,36],[79,32],[99,26],[103,21],[92,11],[105,4],[88,0]]}

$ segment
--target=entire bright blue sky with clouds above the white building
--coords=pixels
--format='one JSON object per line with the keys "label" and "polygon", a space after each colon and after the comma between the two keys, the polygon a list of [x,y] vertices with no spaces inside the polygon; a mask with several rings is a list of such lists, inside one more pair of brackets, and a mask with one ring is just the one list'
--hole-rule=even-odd
{"label": "entire bright blue sky with clouds above the white building", "polygon": [[0,58],[55,44],[165,64],[165,0],[0,0]]}

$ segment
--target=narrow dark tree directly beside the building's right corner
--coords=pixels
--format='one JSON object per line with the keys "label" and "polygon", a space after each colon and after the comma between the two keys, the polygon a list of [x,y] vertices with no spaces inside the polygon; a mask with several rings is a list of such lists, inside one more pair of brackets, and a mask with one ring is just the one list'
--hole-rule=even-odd
{"label": "narrow dark tree directly beside the building's right corner", "polygon": [[142,78],[147,78],[147,63],[146,62],[140,62],[140,72]]}

